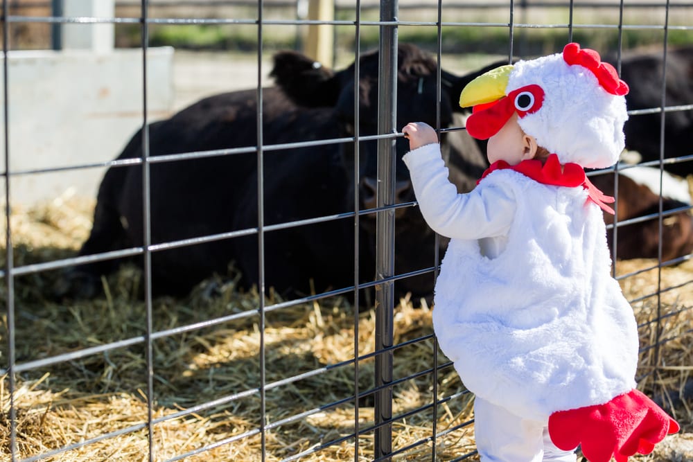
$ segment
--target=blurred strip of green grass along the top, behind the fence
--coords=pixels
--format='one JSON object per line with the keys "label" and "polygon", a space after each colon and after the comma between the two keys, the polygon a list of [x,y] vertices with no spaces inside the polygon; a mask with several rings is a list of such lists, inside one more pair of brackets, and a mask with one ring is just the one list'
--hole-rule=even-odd
{"label": "blurred strip of green grass along the top, behind the fence", "polygon": [[[116,38],[119,46],[140,45],[139,26],[121,27]],[[150,46],[173,46],[181,49],[207,49],[229,51],[255,51],[258,36],[256,26],[229,24],[152,25],[149,31]],[[358,40],[362,50],[376,48],[380,37],[378,26],[360,28]],[[568,42],[568,28],[515,28],[513,49],[516,55],[531,56],[554,53]],[[335,43],[340,50],[350,51],[356,45],[353,26],[337,26]],[[506,26],[447,26],[441,29],[441,47],[444,53],[507,54],[510,31]],[[434,26],[399,26],[398,40],[436,50],[437,28]],[[624,29],[619,35],[617,28],[574,28],[572,41],[597,50],[615,50],[619,42],[624,49],[662,44],[664,32],[660,29]],[[690,45],[690,30],[669,30],[669,45]],[[276,50],[297,48],[301,42],[295,27],[263,30],[263,48]]]}

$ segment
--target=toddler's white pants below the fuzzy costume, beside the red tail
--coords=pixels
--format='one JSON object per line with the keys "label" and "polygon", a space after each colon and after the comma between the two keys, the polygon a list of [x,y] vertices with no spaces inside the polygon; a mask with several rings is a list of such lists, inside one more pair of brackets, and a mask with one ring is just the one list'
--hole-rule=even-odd
{"label": "toddler's white pants below the fuzzy costume, beside the red tail", "polygon": [[545,422],[511,414],[486,400],[475,398],[474,433],[482,462],[575,462],[574,451],[551,443]]}

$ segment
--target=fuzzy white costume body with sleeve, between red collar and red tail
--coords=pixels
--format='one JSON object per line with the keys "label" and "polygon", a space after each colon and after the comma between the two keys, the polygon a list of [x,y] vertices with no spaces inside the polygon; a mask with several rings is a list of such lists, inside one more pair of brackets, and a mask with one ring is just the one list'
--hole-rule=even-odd
{"label": "fuzzy white costume body with sleeve, between red collar and red tail", "polygon": [[[611,278],[602,210],[586,204],[584,188],[498,170],[458,195],[438,145],[405,162],[426,222],[452,238],[433,322],[468,389],[518,416],[548,420],[635,387],[633,310]],[[480,238],[494,249],[494,238],[507,238],[505,250],[489,258]]]}

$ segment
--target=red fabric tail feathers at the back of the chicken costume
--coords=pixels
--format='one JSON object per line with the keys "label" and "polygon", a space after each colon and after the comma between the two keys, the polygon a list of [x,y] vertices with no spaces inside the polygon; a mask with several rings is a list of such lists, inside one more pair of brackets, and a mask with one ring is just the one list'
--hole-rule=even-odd
{"label": "red fabric tail feathers at the back of the chicken costume", "polygon": [[678,432],[670,418],[638,390],[603,405],[554,412],[549,417],[551,441],[562,450],[578,445],[590,462],[627,462],[636,452],[649,454],[667,434]]}

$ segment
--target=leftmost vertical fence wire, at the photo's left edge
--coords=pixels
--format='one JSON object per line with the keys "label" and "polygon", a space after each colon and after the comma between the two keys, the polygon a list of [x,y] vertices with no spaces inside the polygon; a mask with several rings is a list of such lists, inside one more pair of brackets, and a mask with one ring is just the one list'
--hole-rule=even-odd
{"label": "leftmost vertical fence wire, at the photo's left edge", "polygon": [[5,290],[7,308],[7,355],[8,355],[8,392],[10,393],[10,457],[12,462],[17,459],[17,407],[15,406],[15,392],[17,382],[15,381],[15,277],[12,274],[14,260],[12,249],[12,226],[10,226],[10,80],[9,80],[9,40],[10,22],[8,21],[9,6],[8,1],[3,1],[3,115],[5,137],[3,139],[5,148]]}

